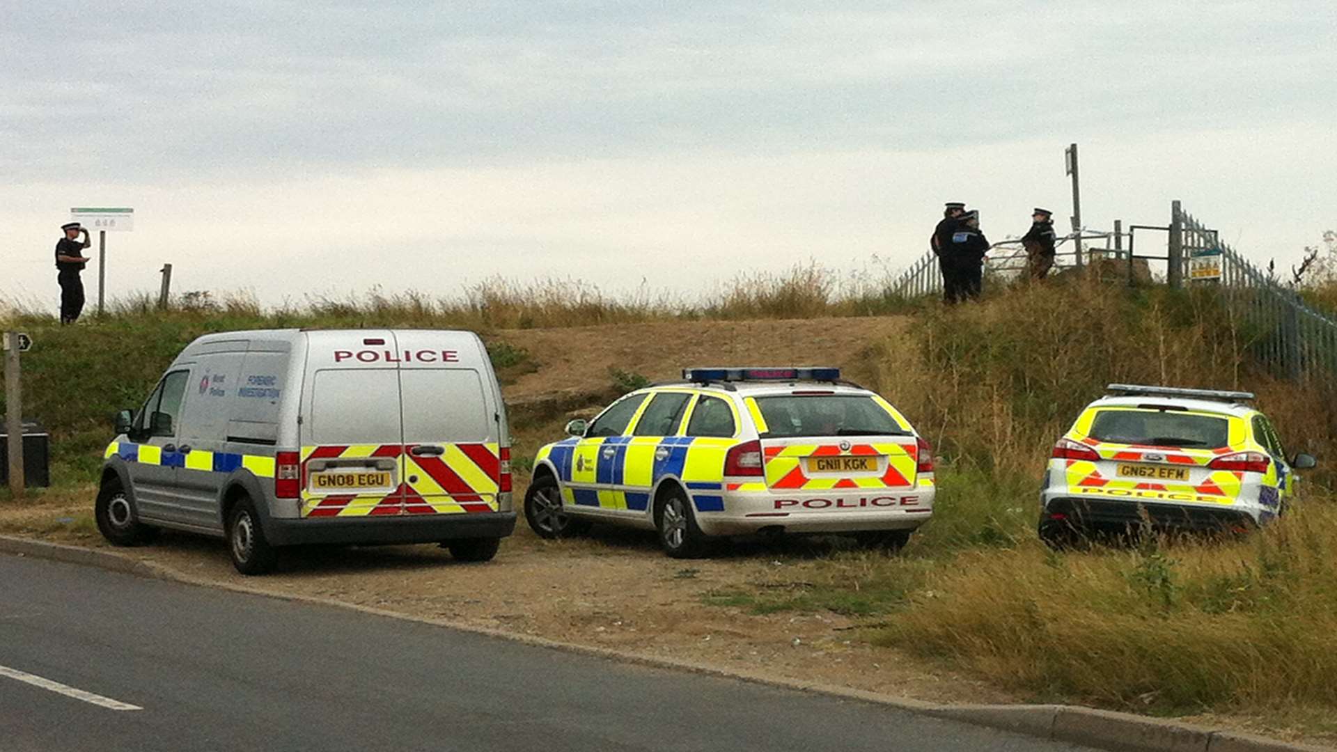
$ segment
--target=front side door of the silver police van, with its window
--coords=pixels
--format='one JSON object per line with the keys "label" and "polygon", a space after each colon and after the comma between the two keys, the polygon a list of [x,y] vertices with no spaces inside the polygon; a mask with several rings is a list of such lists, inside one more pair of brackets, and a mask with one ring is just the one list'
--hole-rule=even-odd
{"label": "front side door of the silver police van, with its window", "polygon": [[120,448],[120,455],[128,460],[135,504],[146,518],[191,522],[190,510],[176,487],[176,468],[186,459],[179,451],[176,434],[190,373],[191,367],[185,364],[163,376],[135,419],[127,436],[131,446]]}

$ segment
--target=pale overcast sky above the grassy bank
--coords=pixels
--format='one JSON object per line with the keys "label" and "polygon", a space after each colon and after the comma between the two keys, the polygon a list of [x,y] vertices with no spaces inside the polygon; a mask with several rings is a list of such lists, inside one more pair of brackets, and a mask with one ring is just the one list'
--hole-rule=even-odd
{"label": "pale overcast sky above the grassy bank", "polygon": [[135,209],[114,294],[894,269],[944,201],[1067,229],[1070,142],[1088,227],[1179,198],[1290,264],[1337,229],[1334,50],[1332,0],[0,0],[0,297],[55,310],[71,206]]}

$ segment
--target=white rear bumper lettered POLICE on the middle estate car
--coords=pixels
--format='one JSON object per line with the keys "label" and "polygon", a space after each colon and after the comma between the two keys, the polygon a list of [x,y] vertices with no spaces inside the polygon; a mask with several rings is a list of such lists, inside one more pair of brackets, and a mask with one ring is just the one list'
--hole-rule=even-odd
{"label": "white rear bumper lettered POLICE on the middle estate car", "polygon": [[[853,490],[850,490],[853,491]],[[822,495],[726,494],[722,511],[702,511],[706,535],[785,533],[857,533],[913,530],[933,516],[932,490],[828,491]]]}

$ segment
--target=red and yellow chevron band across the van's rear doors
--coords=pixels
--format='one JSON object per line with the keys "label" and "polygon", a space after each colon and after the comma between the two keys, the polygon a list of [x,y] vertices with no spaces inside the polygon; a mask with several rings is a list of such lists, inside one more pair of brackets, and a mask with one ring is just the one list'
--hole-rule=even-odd
{"label": "red and yellow chevron band across the van's rear doors", "polygon": [[[380,516],[497,511],[500,447],[439,444],[441,456],[416,456],[413,446],[350,444],[302,447],[302,516]],[[397,488],[364,494],[313,492],[306,482],[313,459],[394,459]]]}

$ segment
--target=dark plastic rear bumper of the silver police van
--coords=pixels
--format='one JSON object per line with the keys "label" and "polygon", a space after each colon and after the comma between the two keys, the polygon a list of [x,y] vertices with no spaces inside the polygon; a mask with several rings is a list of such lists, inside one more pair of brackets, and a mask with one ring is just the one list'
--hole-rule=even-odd
{"label": "dark plastic rear bumper of the silver police van", "polygon": [[275,546],[302,543],[435,543],[460,538],[505,538],[515,531],[515,512],[432,514],[397,516],[270,519],[265,535]]}

